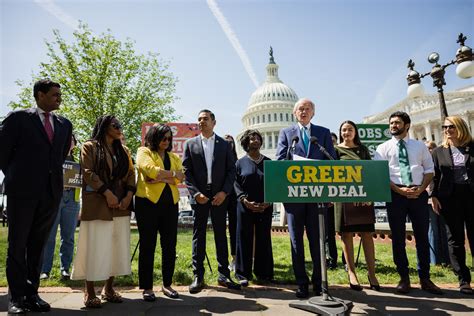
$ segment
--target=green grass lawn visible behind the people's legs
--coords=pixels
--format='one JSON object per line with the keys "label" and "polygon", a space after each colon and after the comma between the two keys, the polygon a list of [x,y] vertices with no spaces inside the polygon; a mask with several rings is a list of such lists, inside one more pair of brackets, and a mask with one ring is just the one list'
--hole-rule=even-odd
{"label": "green grass lawn visible behind the people's legs", "polygon": [[[193,272],[191,268],[191,239],[192,232],[190,229],[178,231],[178,245],[177,245],[177,259],[176,268],[174,274],[174,284],[176,285],[188,285],[192,282]],[[76,231],[77,241],[77,231]],[[135,249],[138,242],[137,230],[132,230],[131,233],[131,253]],[[338,252],[339,257],[341,254],[341,242],[338,240]],[[272,236],[273,243],[273,257],[275,262],[275,280],[279,283],[292,284],[294,283],[293,268],[291,266],[291,252],[290,242],[288,234],[275,234]],[[355,251],[358,247],[358,239],[354,239]],[[307,271],[311,272],[311,257],[309,255],[308,243],[305,241],[305,255],[306,255],[306,268]],[[59,255],[57,253],[59,247],[56,244],[56,255],[51,278],[41,282],[41,286],[72,286],[82,287],[82,281],[62,281],[59,277]],[[376,273],[380,284],[396,284],[399,280],[395,265],[392,260],[391,244],[386,242],[375,243],[376,251]],[[7,228],[0,227],[0,286],[7,286],[7,280],[5,276],[5,259],[7,253]],[[207,254],[211,262],[212,270],[211,273],[208,268],[207,262],[204,262],[206,268],[205,281],[207,284],[217,283],[217,261],[215,258],[215,245],[212,231],[207,233]],[[410,276],[412,283],[417,283],[417,272],[416,272],[416,253],[413,244],[407,246],[408,260],[410,262]],[[160,247],[157,246],[155,253],[155,285],[161,285],[161,251]],[[472,266],[471,255],[467,255],[468,264]],[[367,269],[364,261],[363,251],[361,251],[358,268],[359,281],[362,284],[368,284],[367,281]],[[309,274],[311,276],[311,274]],[[454,283],[457,284],[457,277],[449,268],[443,268],[440,266],[431,266],[431,276],[435,283]],[[333,284],[348,284],[347,273],[344,271],[342,264],[339,260],[339,267],[336,270],[328,271],[328,281],[330,285]],[[132,275],[118,277],[116,284],[120,286],[137,286],[138,285],[138,251],[132,262]]]}

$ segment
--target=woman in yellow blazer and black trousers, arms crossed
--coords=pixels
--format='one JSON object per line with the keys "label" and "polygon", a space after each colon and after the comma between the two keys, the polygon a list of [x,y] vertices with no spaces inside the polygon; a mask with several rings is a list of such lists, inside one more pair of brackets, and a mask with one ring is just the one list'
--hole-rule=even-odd
{"label": "woman in yellow blazer and black trousers, arms crossed", "polygon": [[163,124],[152,126],[145,136],[145,146],[137,152],[138,181],[135,197],[135,215],[140,235],[138,257],[138,279],[143,289],[143,299],[154,301],[153,262],[157,233],[160,233],[162,250],[161,269],[163,293],[178,298],[171,288],[176,260],[176,238],[178,234],[177,184],[184,174],[181,159],[171,152],[173,133]]}

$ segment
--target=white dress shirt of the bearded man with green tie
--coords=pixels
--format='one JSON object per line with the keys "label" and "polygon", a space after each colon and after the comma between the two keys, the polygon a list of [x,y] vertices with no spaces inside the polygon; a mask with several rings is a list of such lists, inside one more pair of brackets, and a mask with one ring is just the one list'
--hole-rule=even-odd
{"label": "white dress shirt of the bearded man with green tie", "polygon": [[[410,163],[410,170],[412,181],[411,185],[421,185],[423,177],[427,173],[434,173],[433,158],[428,151],[426,145],[418,140],[410,139],[406,136],[404,139],[405,147],[408,152],[408,161]],[[398,162],[398,139],[392,139],[380,144],[374,155],[374,160],[387,160],[388,170],[390,173],[390,181],[401,185],[402,177],[400,175],[400,165]]]}

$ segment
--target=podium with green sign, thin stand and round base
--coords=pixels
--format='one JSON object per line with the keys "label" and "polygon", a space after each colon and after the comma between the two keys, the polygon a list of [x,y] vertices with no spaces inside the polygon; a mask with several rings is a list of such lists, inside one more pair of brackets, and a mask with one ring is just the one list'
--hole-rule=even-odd
{"label": "podium with green sign, thin stand and round base", "polygon": [[[387,161],[293,160],[265,161],[265,202],[326,203],[391,200]],[[318,207],[322,295],[294,301],[290,307],[320,315],[349,315],[353,303],[329,294],[325,217]]]}

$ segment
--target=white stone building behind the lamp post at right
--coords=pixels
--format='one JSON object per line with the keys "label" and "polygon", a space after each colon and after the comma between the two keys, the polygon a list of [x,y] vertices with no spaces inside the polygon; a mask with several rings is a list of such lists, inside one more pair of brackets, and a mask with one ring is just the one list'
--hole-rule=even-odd
{"label": "white stone building behind the lamp post at right", "polygon": [[[451,92],[445,92],[446,108],[449,115],[461,116],[468,124],[471,133],[474,131],[474,85]],[[405,98],[387,110],[367,116],[364,123],[387,124],[391,113],[404,111],[410,115],[410,138],[429,140],[440,144],[443,140],[441,130],[441,113],[437,93],[419,98]]]}

